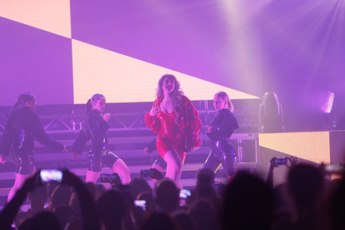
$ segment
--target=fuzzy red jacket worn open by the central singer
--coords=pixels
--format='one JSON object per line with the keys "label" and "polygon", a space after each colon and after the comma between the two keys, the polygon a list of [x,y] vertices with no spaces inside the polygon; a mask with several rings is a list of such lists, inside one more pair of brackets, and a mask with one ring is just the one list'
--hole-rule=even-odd
{"label": "fuzzy red jacket worn open by the central singer", "polygon": [[[159,106],[163,98],[158,97],[152,105],[152,108]],[[180,133],[185,133],[187,147],[200,147],[201,139],[199,132],[201,129],[201,121],[199,113],[195,109],[191,101],[185,96],[181,96],[181,107],[177,106],[176,112],[178,115],[177,124],[180,127]],[[145,115],[146,126],[155,133],[160,131],[160,120],[157,116],[151,117],[150,112]]]}

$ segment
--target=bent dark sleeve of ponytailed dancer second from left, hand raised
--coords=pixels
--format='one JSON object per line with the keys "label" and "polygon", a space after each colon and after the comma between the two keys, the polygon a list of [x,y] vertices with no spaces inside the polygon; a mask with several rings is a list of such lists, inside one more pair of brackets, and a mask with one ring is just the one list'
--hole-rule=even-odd
{"label": "bent dark sleeve of ponytailed dancer second from left, hand raised", "polygon": [[91,137],[95,140],[102,137],[110,126],[100,115],[92,114],[92,111],[86,116],[85,122]]}

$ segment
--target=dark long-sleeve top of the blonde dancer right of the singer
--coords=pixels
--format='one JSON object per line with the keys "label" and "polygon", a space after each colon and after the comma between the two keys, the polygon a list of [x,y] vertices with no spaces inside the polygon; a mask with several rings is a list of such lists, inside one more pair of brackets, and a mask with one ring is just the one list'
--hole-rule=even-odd
{"label": "dark long-sleeve top of the blonde dancer right of the singer", "polygon": [[218,111],[218,114],[209,126],[213,126],[214,131],[207,133],[207,136],[211,140],[216,141],[229,138],[233,134],[234,130],[239,127],[236,117],[227,108]]}

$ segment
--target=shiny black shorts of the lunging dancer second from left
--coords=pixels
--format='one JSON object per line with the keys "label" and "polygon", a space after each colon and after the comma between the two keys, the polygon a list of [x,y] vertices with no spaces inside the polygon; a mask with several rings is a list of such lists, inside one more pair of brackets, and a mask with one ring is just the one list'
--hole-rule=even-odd
{"label": "shiny black shorts of the lunging dancer second from left", "polygon": [[87,154],[88,170],[91,172],[100,172],[102,170],[102,165],[111,169],[112,165],[119,159],[117,155],[109,150],[106,154],[89,151]]}

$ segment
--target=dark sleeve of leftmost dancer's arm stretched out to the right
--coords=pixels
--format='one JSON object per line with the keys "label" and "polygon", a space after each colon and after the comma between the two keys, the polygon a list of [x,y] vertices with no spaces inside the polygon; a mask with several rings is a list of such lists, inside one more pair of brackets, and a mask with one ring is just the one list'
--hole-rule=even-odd
{"label": "dark sleeve of leftmost dancer's arm stretched out to the right", "polygon": [[38,141],[44,146],[53,148],[57,151],[60,151],[60,152],[63,151],[63,144],[61,142],[54,140],[46,133],[45,129],[41,125],[41,122],[36,114],[34,113],[29,114],[28,119],[29,119],[28,122],[30,122],[30,125],[32,128],[33,136],[36,141]]}

